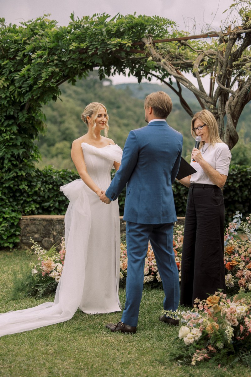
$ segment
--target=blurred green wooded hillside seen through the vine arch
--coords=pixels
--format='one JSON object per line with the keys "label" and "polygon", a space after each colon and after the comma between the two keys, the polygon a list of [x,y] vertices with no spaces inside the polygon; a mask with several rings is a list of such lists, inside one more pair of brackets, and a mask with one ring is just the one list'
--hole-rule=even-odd
{"label": "blurred green wooded hillside seen through the vine arch", "polygon": [[[191,117],[181,107],[178,97],[171,89],[165,85],[151,83],[113,86],[109,79],[100,81],[94,71],[87,79],[77,81],[75,86],[69,83],[62,84],[61,100],[51,101],[43,107],[47,133],[40,135],[37,141],[42,155],[42,161],[38,166],[53,165],[58,169],[75,169],[70,157],[71,143],[87,132],[80,116],[85,106],[94,101],[106,106],[110,125],[108,136],[123,148],[129,131],[146,125],[144,99],[149,93],[158,90],[167,92],[172,98],[173,110],[167,118],[167,123],[183,134],[183,157],[188,156],[189,160],[190,151],[194,146],[194,139],[190,134]],[[194,112],[198,111],[195,97],[186,88],[183,90],[189,106]],[[246,106],[238,124],[238,129],[242,129],[242,138],[248,141],[251,139],[251,130],[248,127],[250,113],[251,106]],[[237,154],[240,155],[240,151]],[[245,159],[246,151],[242,155]]]}

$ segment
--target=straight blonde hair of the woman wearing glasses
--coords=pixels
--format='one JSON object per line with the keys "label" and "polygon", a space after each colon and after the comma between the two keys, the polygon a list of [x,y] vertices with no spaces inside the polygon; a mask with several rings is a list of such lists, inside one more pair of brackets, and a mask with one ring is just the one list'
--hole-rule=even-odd
{"label": "straight blonde hair of the woman wearing glasses", "polygon": [[[215,143],[223,143],[219,136],[219,129],[216,119],[214,118],[213,114],[209,110],[201,110],[193,116],[191,122],[191,133],[193,138],[196,138],[197,133],[193,131],[195,121],[199,119],[202,124],[206,124],[208,128],[208,143],[214,146]],[[203,130],[203,128],[202,128]],[[199,144],[199,149],[202,148],[205,142],[201,141]]]}

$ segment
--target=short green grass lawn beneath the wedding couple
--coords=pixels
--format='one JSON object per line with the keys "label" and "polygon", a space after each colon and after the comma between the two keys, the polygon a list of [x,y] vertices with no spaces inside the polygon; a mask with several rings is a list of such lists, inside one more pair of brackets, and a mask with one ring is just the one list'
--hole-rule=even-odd
{"label": "short green grass lawn beneath the wedding couple", "polygon": [[[29,308],[53,297],[12,300],[13,271],[21,271],[30,259],[23,251],[0,252],[0,312]],[[64,323],[0,338],[1,377],[250,377],[242,365],[218,368],[209,363],[178,366],[167,360],[178,328],[159,322],[164,294],[144,290],[136,334],[111,333],[105,323],[118,322],[120,313],[90,316],[77,311]],[[120,290],[125,303],[125,290]]]}

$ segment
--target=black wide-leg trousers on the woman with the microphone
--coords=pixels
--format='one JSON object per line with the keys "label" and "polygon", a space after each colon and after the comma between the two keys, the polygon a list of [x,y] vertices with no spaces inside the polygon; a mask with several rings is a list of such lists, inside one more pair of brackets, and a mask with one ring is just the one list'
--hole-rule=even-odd
{"label": "black wide-leg trousers on the woman with the microphone", "polygon": [[224,198],[216,185],[191,184],[181,260],[181,305],[225,292]]}

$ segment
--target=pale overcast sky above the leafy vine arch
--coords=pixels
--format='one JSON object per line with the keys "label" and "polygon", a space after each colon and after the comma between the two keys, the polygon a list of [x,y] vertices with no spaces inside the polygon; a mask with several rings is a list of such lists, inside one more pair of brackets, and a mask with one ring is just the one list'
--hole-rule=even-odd
{"label": "pale overcast sky above the leafy vine arch", "polygon": [[[68,25],[70,14],[82,18],[94,13],[107,13],[111,16],[118,12],[126,15],[136,12],[137,15],[160,15],[175,21],[180,29],[191,31],[196,25],[196,34],[203,29],[205,23],[210,29],[219,29],[221,21],[226,17],[222,12],[228,9],[232,0],[0,0],[0,17],[7,23],[19,24],[50,13],[51,19],[58,25]],[[193,34],[195,34],[193,32]],[[130,77],[113,78],[113,82],[137,82]]]}

